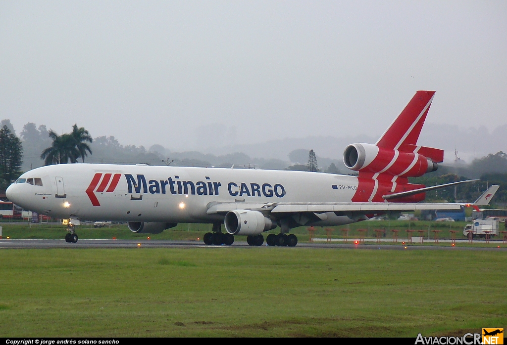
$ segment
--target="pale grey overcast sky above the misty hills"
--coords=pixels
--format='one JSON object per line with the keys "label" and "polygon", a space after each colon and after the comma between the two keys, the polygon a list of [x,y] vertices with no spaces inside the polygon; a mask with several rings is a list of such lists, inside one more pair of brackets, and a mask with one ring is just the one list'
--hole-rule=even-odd
{"label": "pale grey overcast sky above the misty hills", "polygon": [[492,130],[506,18],[505,1],[0,1],[0,118],[182,150],[380,135],[436,90],[427,122]]}

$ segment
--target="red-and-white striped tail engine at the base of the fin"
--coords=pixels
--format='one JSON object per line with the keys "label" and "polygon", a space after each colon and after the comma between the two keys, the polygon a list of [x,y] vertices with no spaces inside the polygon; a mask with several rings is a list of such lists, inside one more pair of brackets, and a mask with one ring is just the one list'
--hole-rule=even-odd
{"label": "red-and-white striped tail engine at the base of the fin", "polygon": [[372,144],[352,144],[343,152],[343,163],[355,171],[382,172],[401,177],[418,177],[435,171],[438,164],[422,154],[379,148]]}

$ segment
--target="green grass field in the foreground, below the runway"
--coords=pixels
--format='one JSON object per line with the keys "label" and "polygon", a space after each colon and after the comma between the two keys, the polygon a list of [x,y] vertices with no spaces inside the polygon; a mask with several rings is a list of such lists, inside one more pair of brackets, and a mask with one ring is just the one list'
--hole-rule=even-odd
{"label": "green grass field in the foreground, below the runway", "polygon": [[507,326],[506,252],[210,246],[0,257],[0,337],[415,337]]}

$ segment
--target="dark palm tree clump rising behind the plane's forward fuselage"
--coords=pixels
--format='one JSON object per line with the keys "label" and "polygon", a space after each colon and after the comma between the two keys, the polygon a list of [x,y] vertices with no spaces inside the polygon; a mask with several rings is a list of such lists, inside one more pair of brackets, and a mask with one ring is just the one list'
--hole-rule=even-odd
{"label": "dark palm tree clump rising behind the plane's forward fuselage", "polygon": [[92,153],[90,146],[85,142],[91,143],[93,141],[87,130],[84,127],[79,127],[74,124],[73,131],[70,134],[62,134],[59,136],[53,130],[49,131],[49,137],[53,139],[51,147],[45,149],[41,158],[44,159],[46,165],[51,164],[64,164],[77,163],[78,158],[82,158],[83,162],[85,157],[88,156],[87,151]]}

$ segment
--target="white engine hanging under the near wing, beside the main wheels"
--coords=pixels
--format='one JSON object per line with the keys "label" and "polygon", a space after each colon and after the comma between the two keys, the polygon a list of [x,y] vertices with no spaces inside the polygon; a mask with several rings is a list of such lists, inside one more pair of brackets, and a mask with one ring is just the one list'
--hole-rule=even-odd
{"label": "white engine hanging under the near wing, beside the main wheels", "polygon": [[225,229],[231,235],[259,235],[276,228],[276,223],[259,211],[238,209],[225,215]]}

